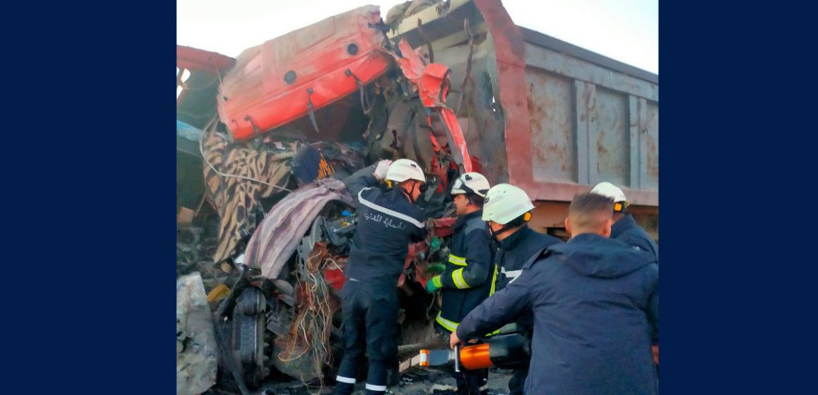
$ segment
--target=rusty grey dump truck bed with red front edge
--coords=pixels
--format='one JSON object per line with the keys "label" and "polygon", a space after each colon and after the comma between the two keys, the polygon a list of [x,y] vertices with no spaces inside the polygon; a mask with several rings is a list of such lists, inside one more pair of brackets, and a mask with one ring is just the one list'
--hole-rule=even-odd
{"label": "rusty grey dump truck bed with red front edge", "polygon": [[519,27],[495,0],[427,8],[392,37],[425,47],[418,19],[434,61],[452,68],[452,90],[466,70],[469,20],[474,58],[459,115],[492,183],[569,202],[608,181],[631,204],[658,208],[658,75]]}

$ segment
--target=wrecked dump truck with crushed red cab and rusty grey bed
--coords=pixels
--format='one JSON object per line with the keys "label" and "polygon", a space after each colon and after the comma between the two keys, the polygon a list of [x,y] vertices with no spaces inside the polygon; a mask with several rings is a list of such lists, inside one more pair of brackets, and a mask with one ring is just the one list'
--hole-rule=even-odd
{"label": "wrecked dump truck with crushed red cab and rusty grey bed", "polygon": [[206,277],[218,373],[242,392],[334,376],[357,222],[339,180],[379,159],[413,159],[433,186],[398,284],[402,355],[434,341],[423,286],[459,173],[523,187],[531,226],[563,238],[573,195],[614,182],[658,241],[658,76],[516,26],[498,0],[360,7],[235,59],[179,46],[177,109],[180,238],[200,244],[178,274]]}

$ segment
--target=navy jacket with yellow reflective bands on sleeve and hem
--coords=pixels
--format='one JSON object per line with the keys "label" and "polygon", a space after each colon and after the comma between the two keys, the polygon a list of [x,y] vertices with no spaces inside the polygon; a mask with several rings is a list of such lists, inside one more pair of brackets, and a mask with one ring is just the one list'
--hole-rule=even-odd
{"label": "navy jacket with yellow reflective bands on sleeve and hem", "polygon": [[443,305],[434,320],[438,328],[448,332],[454,331],[466,314],[488,298],[492,286],[491,236],[482,216],[483,210],[461,215],[454,225],[446,271],[440,276]]}

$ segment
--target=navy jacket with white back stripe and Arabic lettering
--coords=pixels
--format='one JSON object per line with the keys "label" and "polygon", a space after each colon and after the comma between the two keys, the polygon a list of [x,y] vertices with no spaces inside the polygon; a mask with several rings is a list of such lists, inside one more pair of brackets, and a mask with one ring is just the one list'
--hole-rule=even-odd
{"label": "navy jacket with white back stripe and Arabic lettering", "polygon": [[362,168],[344,180],[358,214],[344,275],[397,285],[409,244],[426,237],[425,214],[398,187],[374,187],[378,183],[374,171],[374,165]]}

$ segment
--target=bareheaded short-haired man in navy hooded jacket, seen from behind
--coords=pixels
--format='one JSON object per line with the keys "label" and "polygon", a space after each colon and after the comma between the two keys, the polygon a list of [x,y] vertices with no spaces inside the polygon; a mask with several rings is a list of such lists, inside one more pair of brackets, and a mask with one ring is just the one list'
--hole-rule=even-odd
{"label": "bareheaded short-haired man in navy hooded jacket, seen from behind", "polygon": [[515,281],[465,316],[450,345],[533,312],[536,374],[528,375],[525,393],[658,393],[650,350],[658,265],[654,254],[609,239],[612,214],[607,197],[576,196],[565,220],[569,242],[525,263]]}

